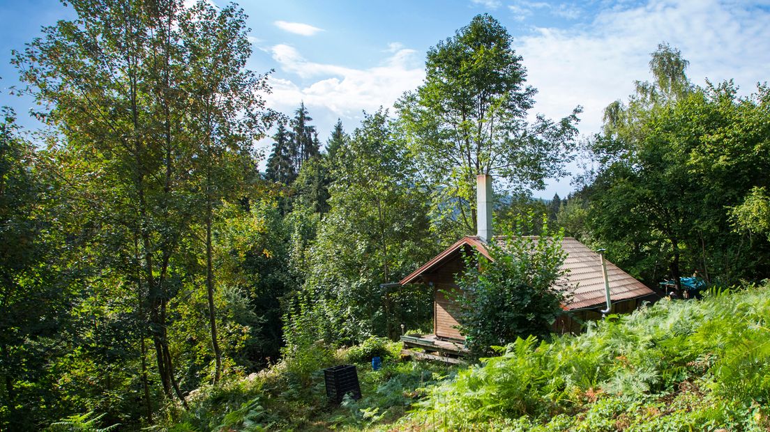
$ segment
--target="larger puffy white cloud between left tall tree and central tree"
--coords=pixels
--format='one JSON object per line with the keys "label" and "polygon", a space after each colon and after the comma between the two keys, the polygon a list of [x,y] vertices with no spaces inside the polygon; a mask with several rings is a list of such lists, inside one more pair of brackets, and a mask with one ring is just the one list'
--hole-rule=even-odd
{"label": "larger puffy white cloud between left tall tree and central tree", "polygon": [[404,91],[417,88],[425,76],[416,52],[395,44],[389,45],[390,55],[372,68],[309,61],[290,45],[275,45],[271,52],[280,71],[300,78],[269,78],[273,93],[266,98],[268,105],[282,112],[292,111],[304,101],[311,113],[313,109],[328,110],[333,118],[359,118],[362,110],[391,107]]}

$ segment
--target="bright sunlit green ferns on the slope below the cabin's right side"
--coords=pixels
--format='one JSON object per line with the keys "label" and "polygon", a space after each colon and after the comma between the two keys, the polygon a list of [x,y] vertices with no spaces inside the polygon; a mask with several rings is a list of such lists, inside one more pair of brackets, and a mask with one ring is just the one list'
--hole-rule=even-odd
{"label": "bright sunlit green ferns on the slope below the cabin's right side", "polygon": [[[420,402],[451,430],[768,430],[770,285],[518,339]],[[440,415],[437,415],[440,414]]]}

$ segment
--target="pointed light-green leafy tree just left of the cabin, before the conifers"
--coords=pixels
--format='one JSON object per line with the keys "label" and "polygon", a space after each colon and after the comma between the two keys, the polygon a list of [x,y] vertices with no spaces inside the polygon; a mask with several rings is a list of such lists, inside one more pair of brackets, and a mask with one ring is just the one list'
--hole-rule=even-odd
{"label": "pointed light-green leafy tree just left of the cabin, before the conifers", "polygon": [[[330,211],[310,243],[305,282],[287,317],[290,352],[297,341],[394,336],[397,324],[417,325],[430,311],[424,291],[383,285],[409,274],[437,248],[427,196],[414,187],[415,169],[387,114],[366,115],[337,155]],[[315,324],[300,328],[300,322]]]}

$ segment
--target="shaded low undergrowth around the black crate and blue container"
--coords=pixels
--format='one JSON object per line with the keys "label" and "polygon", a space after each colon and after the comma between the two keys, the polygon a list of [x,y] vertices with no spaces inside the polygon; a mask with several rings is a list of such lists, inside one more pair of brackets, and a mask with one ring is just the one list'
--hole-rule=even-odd
{"label": "shaded low undergrowth around the black crate and blue container", "polygon": [[[399,420],[425,387],[452,376],[444,364],[407,361],[400,343],[371,338],[356,347],[316,347],[258,374],[203,387],[189,396],[189,410],[174,407],[160,429],[173,432],[235,430],[361,430]],[[330,354],[331,353],[331,354]],[[371,357],[382,359],[373,371]],[[323,368],[355,364],[362,398],[340,405],[326,399]]]}

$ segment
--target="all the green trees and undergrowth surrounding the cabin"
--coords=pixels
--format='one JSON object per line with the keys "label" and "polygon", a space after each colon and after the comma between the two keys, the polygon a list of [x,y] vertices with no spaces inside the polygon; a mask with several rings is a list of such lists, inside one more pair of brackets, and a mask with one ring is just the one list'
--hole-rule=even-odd
{"label": "all the green trees and undergrowth surrounding the cabin", "polygon": [[[661,42],[581,137],[580,106],[536,115],[513,38],[484,14],[350,130],[268,108],[238,5],[67,3],[77,18],[11,59],[44,127],[0,119],[0,430],[770,427],[766,83],[691,82]],[[576,191],[533,197],[573,161]],[[432,298],[393,283],[475,234],[478,174],[495,178],[495,224],[606,248],[648,287],[697,272],[711,291],[577,337],[521,334],[472,366],[400,359]],[[364,397],[330,408],[320,370],[343,363]],[[680,405],[679,424],[654,423]]]}

